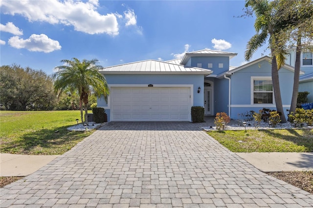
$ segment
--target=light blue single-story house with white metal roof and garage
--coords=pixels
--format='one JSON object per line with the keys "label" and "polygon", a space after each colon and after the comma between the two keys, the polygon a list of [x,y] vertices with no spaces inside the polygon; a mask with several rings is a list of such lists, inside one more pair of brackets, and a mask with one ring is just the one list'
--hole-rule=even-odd
{"label": "light blue single-story house with white metal roof and garage", "polygon": [[[234,67],[236,53],[199,50],[167,62],[147,60],[105,67],[111,93],[98,99],[108,121],[191,121],[192,106],[205,115],[226,112],[232,119],[250,110],[275,109],[270,58]],[[291,104],[293,67],[279,70],[284,109]]]}

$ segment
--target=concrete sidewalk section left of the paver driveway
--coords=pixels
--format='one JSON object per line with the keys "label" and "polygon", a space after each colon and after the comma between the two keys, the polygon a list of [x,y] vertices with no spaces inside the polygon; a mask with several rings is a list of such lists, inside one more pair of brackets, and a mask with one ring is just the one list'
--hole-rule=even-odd
{"label": "concrete sidewalk section left of the paver driveway", "polygon": [[59,155],[16,155],[0,153],[0,176],[27,176]]}

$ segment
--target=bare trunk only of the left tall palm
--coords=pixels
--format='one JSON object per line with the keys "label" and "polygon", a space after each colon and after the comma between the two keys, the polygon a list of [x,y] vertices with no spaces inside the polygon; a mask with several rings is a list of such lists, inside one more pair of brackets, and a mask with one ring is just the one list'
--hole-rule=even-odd
{"label": "bare trunk only of the left tall palm", "polygon": [[[271,53],[274,54],[274,49],[271,49]],[[273,90],[274,90],[274,98],[276,104],[276,110],[281,113],[280,120],[281,123],[286,123],[286,117],[284,113],[282,97],[280,93],[280,86],[279,86],[279,76],[278,76],[278,68],[276,62],[276,56],[272,57],[272,82],[273,82]]]}

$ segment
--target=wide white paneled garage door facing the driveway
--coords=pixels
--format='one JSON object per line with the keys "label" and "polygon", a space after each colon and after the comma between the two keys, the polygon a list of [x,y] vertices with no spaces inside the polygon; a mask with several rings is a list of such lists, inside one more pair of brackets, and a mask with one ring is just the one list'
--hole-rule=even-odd
{"label": "wide white paneled garage door facing the driveway", "polygon": [[111,87],[111,121],[190,121],[190,87]]}

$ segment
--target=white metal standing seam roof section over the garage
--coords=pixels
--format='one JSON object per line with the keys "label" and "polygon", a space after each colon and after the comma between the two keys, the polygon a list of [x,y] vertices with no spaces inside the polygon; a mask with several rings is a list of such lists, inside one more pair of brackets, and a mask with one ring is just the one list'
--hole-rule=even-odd
{"label": "white metal standing seam roof section over the garage", "polygon": [[146,60],[104,67],[99,70],[102,74],[203,74],[212,73],[209,69],[189,67],[170,62]]}

